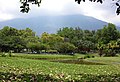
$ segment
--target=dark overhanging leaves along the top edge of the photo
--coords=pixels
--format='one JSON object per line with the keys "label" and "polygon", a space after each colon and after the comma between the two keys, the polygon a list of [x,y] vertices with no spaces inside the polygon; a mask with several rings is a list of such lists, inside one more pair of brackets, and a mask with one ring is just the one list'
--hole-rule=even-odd
{"label": "dark overhanging leaves along the top edge of the photo", "polygon": [[[20,0],[22,6],[20,6],[22,13],[28,13],[30,10],[30,6],[29,4],[35,4],[38,5],[38,7],[40,6],[42,0]],[[77,2],[78,4],[81,3],[81,1],[85,2],[86,0],[75,0],[75,2]],[[98,3],[103,3],[105,0],[89,0],[90,2],[98,2]],[[117,6],[117,10],[116,10],[116,14],[119,15],[120,14],[120,0],[112,0],[115,1],[115,5]]]}

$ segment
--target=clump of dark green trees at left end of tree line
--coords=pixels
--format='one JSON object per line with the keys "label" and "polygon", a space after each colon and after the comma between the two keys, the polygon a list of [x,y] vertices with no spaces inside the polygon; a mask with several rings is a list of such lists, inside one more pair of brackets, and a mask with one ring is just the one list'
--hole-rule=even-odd
{"label": "clump of dark green trees at left end of tree line", "polygon": [[0,50],[2,52],[20,52],[26,48],[28,37],[34,36],[31,29],[17,30],[12,27],[5,26],[0,30]]}

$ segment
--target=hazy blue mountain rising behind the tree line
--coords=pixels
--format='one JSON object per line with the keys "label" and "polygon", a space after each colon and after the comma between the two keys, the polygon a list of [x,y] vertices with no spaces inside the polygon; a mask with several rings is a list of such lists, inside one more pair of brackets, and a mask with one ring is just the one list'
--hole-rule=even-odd
{"label": "hazy blue mountain rising behind the tree line", "polygon": [[43,32],[55,33],[62,27],[80,27],[82,29],[97,30],[104,25],[107,25],[107,23],[84,15],[39,16],[0,22],[1,28],[4,26],[11,26],[17,29],[29,27],[37,34]]}

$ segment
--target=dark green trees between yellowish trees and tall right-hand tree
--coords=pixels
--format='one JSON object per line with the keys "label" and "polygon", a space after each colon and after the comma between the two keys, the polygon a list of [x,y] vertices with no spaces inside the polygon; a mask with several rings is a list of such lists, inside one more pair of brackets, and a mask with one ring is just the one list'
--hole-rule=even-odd
{"label": "dark green trees between yellowish trees and tall right-hand tree", "polygon": [[65,37],[65,42],[70,42],[74,44],[77,48],[76,51],[80,53],[87,53],[90,50],[95,49],[96,39],[95,32],[89,30],[82,30],[77,28],[65,27],[60,29],[57,33],[58,35]]}

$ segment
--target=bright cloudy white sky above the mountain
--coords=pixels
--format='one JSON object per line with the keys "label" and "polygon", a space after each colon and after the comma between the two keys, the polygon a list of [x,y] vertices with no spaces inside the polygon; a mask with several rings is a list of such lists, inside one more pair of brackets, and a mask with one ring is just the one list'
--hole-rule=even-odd
{"label": "bright cloudy white sky above the mountain", "polygon": [[28,14],[19,12],[20,5],[19,0],[0,0],[0,21],[41,15],[83,14],[120,25],[120,15],[116,15],[116,6],[112,0],[105,0],[103,4],[91,3],[87,0],[80,5],[75,0],[42,0],[40,7],[30,5],[31,11]]}

